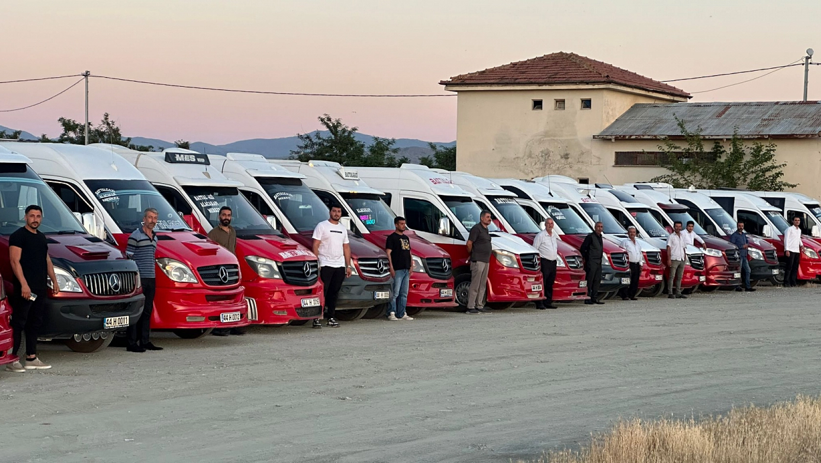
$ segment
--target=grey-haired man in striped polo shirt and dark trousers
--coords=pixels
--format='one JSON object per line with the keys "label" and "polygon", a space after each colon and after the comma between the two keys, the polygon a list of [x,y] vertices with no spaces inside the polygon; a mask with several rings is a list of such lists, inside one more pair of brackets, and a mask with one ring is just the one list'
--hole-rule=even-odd
{"label": "grey-haired man in striped polo shirt and dark trousers", "polygon": [[157,254],[157,235],[154,227],[157,225],[158,213],[154,207],[143,211],[143,226],[135,229],[128,237],[126,254],[137,263],[140,271],[140,281],[143,284],[145,305],[140,318],[126,330],[128,334],[128,352],[162,351],[163,347],[154,346],[149,341],[151,334],[151,314],[154,312],[154,293],[157,291],[157,279],[154,275],[155,255]]}

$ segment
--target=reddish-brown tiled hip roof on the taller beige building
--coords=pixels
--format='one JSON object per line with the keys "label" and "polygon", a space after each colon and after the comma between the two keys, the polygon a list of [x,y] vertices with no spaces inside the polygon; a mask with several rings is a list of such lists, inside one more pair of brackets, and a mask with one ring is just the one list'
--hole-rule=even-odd
{"label": "reddish-brown tiled hip roof on the taller beige building", "polygon": [[469,74],[456,75],[442,85],[620,84],[634,89],[690,98],[690,93],[576,53],[557,52]]}

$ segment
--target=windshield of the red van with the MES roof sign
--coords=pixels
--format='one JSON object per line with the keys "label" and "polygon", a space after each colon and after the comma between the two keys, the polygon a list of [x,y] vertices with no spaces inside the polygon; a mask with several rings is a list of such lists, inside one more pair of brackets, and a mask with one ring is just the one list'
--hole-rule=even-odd
{"label": "windshield of the red van with the MES roof sign", "polygon": [[219,226],[219,209],[231,207],[231,226],[237,235],[279,234],[234,187],[182,187],[212,227]]}

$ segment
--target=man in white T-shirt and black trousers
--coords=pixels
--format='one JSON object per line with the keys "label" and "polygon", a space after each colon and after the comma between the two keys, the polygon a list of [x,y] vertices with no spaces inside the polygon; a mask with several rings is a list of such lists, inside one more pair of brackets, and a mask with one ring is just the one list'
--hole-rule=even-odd
{"label": "man in white T-shirt and black trousers", "polygon": [[[337,297],[342,282],[351,276],[351,247],[348,230],[339,223],[341,218],[342,208],[331,207],[330,218],[319,222],[314,229],[314,254],[319,257],[319,278],[325,287],[325,319],[331,328],[339,326],[334,318]],[[322,323],[314,320],[314,328],[322,328]]]}

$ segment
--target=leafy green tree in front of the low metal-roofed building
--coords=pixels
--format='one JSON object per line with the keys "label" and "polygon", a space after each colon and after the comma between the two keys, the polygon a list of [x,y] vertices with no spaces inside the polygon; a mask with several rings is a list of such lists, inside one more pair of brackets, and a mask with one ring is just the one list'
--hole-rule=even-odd
{"label": "leafy green tree in front of the low metal-roofed building", "polygon": [[675,188],[693,185],[695,188],[746,188],[754,191],[783,191],[797,186],[782,180],[782,169],[787,163],[777,162],[775,143],[755,142],[747,145],[736,128],[726,148],[716,140],[707,151],[700,127],[693,131],[687,129],[684,120],[677,119],[677,123],[687,144],[681,147],[666,138],[658,146],[659,150],[667,153],[665,167],[670,173],[659,175],[651,181],[672,184]]}

